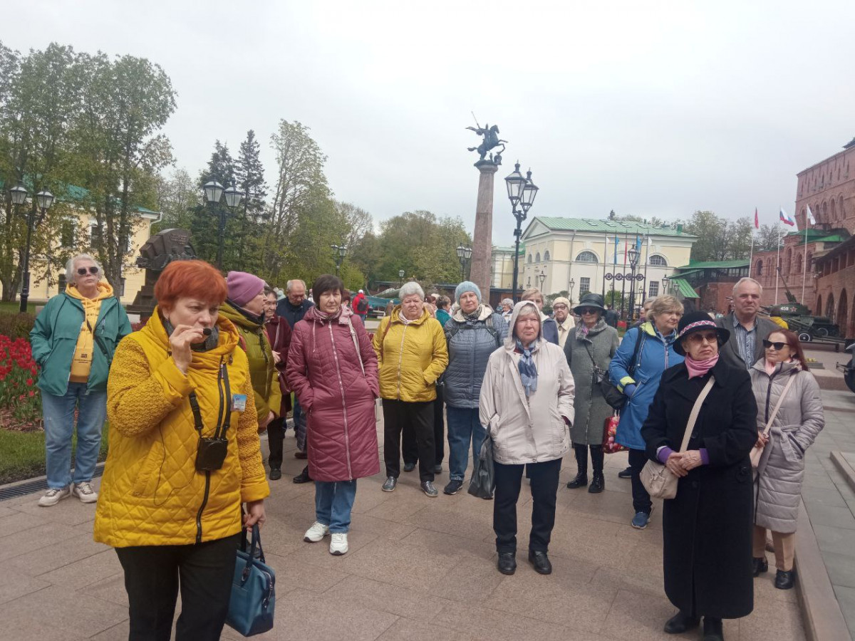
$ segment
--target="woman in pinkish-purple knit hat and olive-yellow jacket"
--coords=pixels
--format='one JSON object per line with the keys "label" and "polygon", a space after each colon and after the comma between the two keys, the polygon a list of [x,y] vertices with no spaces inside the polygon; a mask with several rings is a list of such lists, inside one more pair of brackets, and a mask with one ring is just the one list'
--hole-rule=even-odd
{"label": "woman in pinkish-purple knit hat and olive-yellow jacket", "polygon": [[240,335],[240,346],[250,361],[252,390],[256,395],[258,428],[267,429],[280,411],[282,393],[267,333],[264,332],[264,286],[256,275],[229,272],[226,285],[228,298],[220,314],[234,323]]}

